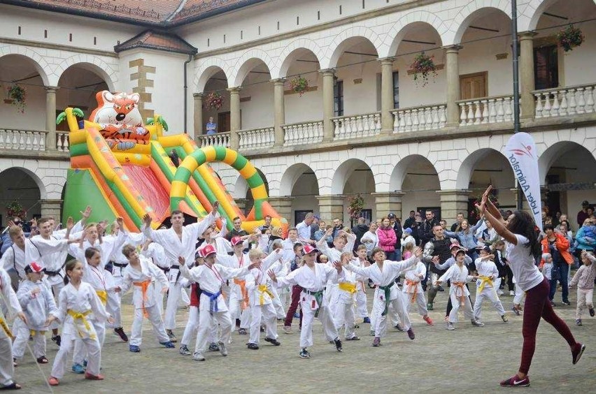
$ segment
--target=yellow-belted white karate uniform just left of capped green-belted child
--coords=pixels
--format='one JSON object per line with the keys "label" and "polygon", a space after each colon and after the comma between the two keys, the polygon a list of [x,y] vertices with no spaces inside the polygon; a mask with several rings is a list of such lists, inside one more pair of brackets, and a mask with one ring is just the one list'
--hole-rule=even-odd
{"label": "yellow-belted white karate uniform just left of capped green-belted child", "polygon": [[250,304],[250,338],[248,342],[259,344],[261,334],[261,318],[264,319],[267,337],[276,340],[277,322],[276,311],[273,305],[273,293],[267,287],[267,270],[282,256],[279,253],[271,253],[262,259],[259,268],[250,270],[247,275],[246,288],[248,289],[248,302]]}

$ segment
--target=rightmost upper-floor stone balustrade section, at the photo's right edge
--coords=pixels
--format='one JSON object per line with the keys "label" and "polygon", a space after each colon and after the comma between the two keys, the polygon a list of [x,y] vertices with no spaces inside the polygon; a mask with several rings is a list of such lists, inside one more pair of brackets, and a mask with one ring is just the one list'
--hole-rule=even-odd
{"label": "rightmost upper-floor stone balustrade section, at the photo's right edge", "polygon": [[536,98],[536,119],[595,112],[596,84],[558,87],[532,92]]}

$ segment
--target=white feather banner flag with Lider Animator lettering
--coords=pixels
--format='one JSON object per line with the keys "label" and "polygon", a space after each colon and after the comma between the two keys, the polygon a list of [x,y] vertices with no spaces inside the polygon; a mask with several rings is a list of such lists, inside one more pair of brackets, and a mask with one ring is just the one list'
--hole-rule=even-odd
{"label": "white feather banner flag with Lider Animator lettering", "polygon": [[513,174],[516,175],[528,205],[530,205],[534,221],[542,230],[538,152],[534,139],[528,133],[513,134],[505,147],[505,156],[513,168]]}

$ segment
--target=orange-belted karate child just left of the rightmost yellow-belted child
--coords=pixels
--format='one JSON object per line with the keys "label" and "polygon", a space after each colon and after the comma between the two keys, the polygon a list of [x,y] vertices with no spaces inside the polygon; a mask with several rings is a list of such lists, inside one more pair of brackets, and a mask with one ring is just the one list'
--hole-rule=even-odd
{"label": "orange-belted karate child just left of the rightmost yellow-belted child", "polygon": [[464,265],[464,256],[466,251],[464,249],[457,249],[455,251],[455,264],[451,265],[450,268],[434,283],[435,286],[439,286],[441,283],[446,283],[451,280],[451,287],[449,290],[449,296],[451,298],[451,305],[453,308],[449,313],[449,320],[447,322],[448,330],[455,330],[453,323],[457,323],[457,312],[460,307],[464,308],[464,316],[466,319],[470,319],[472,326],[482,327],[483,323],[480,323],[474,319],[474,314],[471,309],[471,302],[469,299],[470,292],[466,287],[467,282],[474,279],[471,275],[468,275],[468,269]]}

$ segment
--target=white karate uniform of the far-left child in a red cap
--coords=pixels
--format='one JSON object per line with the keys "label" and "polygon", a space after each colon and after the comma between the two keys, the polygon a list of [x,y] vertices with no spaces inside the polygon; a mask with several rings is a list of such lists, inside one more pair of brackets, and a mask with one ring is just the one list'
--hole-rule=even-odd
{"label": "white karate uniform of the far-left child in a red cap", "polygon": [[[34,289],[39,289],[39,293],[32,294]],[[35,358],[45,356],[45,331],[48,330],[45,327],[45,321],[48,319],[48,313],[55,312],[57,309],[52,291],[41,281],[31,282],[26,279],[19,286],[17,298],[25,316],[27,316],[27,323],[21,319],[15,319],[13,334],[16,338],[13,342],[13,357],[20,359],[24,356],[27,341],[29,341],[29,335],[32,332],[34,332],[33,353]]]}

